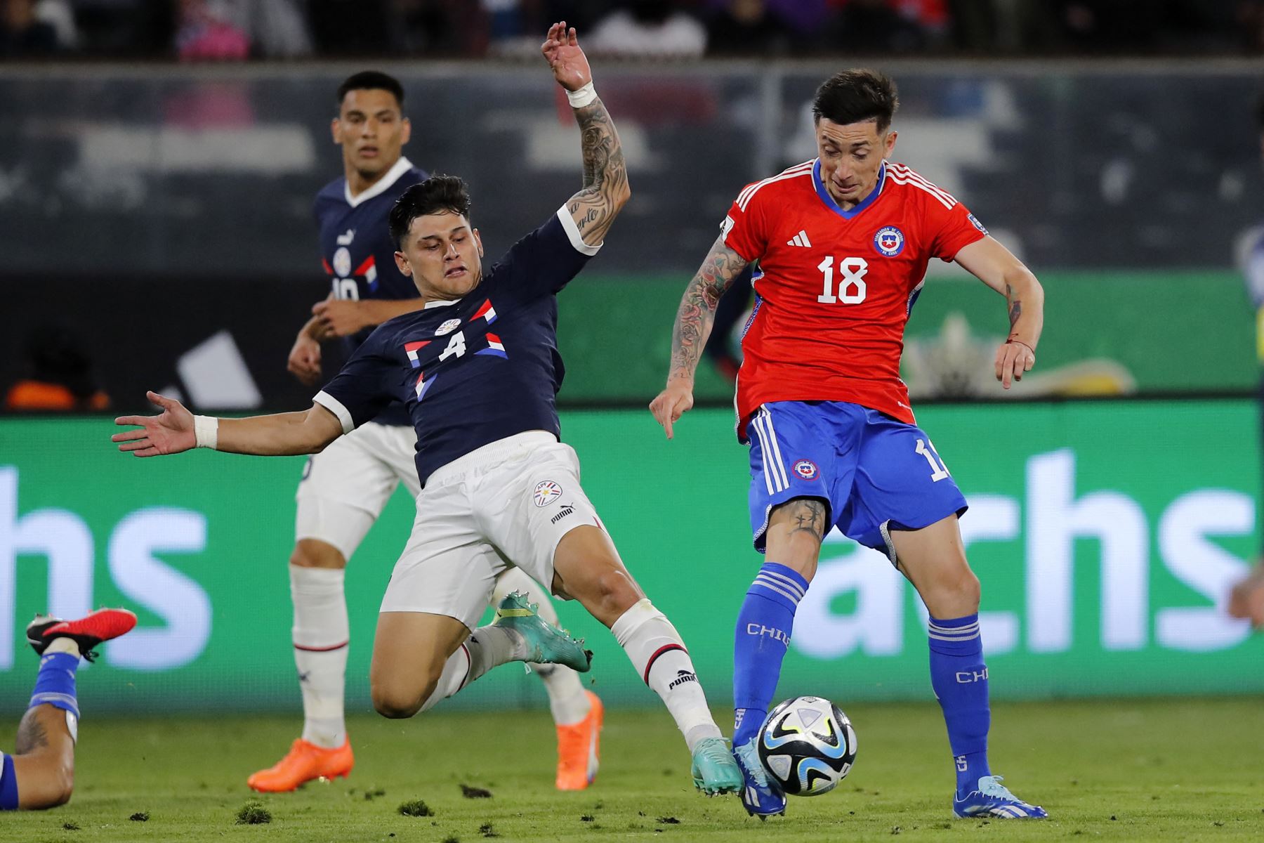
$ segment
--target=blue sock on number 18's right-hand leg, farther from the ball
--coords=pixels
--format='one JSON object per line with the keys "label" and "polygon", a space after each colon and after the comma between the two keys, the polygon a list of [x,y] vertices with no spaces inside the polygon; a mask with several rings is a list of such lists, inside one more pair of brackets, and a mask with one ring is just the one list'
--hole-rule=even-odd
{"label": "blue sock on number 18's right-hand leg, farther from the ball", "polygon": [[978,614],[951,621],[930,618],[930,685],[948,724],[948,744],[957,761],[957,791],[973,790],[987,766],[987,665],[978,636]]}

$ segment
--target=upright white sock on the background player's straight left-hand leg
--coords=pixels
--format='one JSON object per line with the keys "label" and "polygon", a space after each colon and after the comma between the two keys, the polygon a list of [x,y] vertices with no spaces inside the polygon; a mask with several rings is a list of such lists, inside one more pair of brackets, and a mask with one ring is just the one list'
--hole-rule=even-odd
{"label": "upright white sock on the background player's straight left-hand leg", "polygon": [[350,628],[343,595],[344,574],[340,567],[289,566],[295,665],[303,691],[303,741],[329,749],[346,741],[343,695]]}

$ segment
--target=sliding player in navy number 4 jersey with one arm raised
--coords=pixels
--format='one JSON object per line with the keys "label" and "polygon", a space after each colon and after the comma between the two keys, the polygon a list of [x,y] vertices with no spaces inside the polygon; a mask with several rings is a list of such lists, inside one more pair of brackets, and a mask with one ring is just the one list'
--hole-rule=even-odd
{"label": "sliding player in navy number 4 jersey with one arm raised", "polygon": [[742,776],[680,634],[623,566],[579,484],[574,450],[559,442],[555,296],[597,254],[631,191],[575,30],[555,24],[542,52],[574,107],[584,161],[583,188],[556,214],[484,273],[464,183],[437,176],[410,187],[391,212],[391,233],[396,264],[423,307],[380,325],[310,409],[215,420],[149,393],[164,412],[119,418],[140,428],[114,441],[137,456],[195,446],[311,454],[403,403],[423,482],[378,617],[370,672],[378,712],[412,717],[506,661],[588,669],[574,642],[517,595],[501,603],[494,624],[474,629],[495,578],[518,566],[611,628],[684,734],[694,784],[732,792]]}

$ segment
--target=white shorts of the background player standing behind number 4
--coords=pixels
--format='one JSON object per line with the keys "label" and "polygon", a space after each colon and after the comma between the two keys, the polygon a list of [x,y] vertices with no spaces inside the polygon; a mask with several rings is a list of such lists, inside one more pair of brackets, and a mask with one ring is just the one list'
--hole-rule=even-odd
{"label": "white shorts of the background player standing behind number 4", "polygon": [[362,425],[313,454],[295,495],[295,541],[316,538],[350,559],[401,483],[417,497],[416,455],[417,432],[412,427],[377,422]]}

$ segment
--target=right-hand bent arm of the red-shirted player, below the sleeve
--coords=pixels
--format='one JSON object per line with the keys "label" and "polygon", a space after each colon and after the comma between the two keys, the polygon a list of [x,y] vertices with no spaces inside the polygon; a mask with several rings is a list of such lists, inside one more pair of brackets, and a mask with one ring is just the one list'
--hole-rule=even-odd
{"label": "right-hand bent arm of the red-shirted player, below the sleeve", "polygon": [[963,246],[953,258],[972,276],[1005,296],[1010,335],[996,349],[996,379],[1006,389],[1035,365],[1044,330],[1044,287],[1023,262],[991,235]]}

